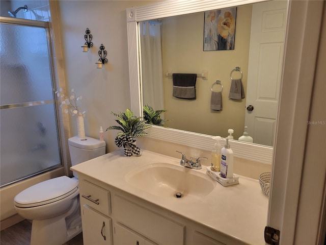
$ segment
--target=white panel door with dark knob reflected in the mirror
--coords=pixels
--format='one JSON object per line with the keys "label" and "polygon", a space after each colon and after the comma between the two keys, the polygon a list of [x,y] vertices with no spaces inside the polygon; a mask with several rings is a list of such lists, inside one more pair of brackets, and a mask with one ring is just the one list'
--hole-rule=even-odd
{"label": "white panel door with dark knob reflected in the mirror", "polygon": [[245,124],[257,144],[274,143],[286,13],[287,1],[254,4],[252,9]]}

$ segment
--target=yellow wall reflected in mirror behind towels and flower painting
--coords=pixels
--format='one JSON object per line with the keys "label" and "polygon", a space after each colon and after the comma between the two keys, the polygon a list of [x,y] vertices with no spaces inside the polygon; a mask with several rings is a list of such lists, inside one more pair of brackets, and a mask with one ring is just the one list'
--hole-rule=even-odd
{"label": "yellow wall reflected in mirror behind towels and flower painting", "polygon": [[[228,96],[230,72],[236,66],[243,72],[244,91],[247,88],[251,11],[251,5],[237,8],[235,48],[228,51],[203,51],[204,13],[162,20],[163,72],[199,74],[208,70],[208,80],[197,78],[196,100],[173,97],[172,79],[164,76],[165,118],[172,119],[167,122],[169,127],[222,137],[232,128],[234,138],[242,135],[246,99],[234,101]],[[223,85],[222,111],[210,109],[211,85],[216,80]],[[219,87],[215,85],[214,91]]]}

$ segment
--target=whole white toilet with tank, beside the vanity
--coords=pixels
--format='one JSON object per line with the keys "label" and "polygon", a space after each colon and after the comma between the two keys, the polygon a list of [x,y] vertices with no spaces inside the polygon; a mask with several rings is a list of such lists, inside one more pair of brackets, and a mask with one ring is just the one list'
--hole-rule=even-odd
{"label": "whole white toilet with tank, beside the vanity", "polygon": [[[91,137],[68,139],[71,165],[105,154],[105,141]],[[31,245],[60,245],[82,232],[77,174],[40,182],[14,199],[17,213],[33,220]]]}

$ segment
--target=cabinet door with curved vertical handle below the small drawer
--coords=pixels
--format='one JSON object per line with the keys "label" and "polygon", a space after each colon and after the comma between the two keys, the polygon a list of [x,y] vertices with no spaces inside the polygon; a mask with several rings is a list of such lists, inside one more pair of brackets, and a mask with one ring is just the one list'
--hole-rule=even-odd
{"label": "cabinet door with curved vertical handle below the small drawer", "polygon": [[112,245],[112,220],[87,205],[82,207],[84,245]]}

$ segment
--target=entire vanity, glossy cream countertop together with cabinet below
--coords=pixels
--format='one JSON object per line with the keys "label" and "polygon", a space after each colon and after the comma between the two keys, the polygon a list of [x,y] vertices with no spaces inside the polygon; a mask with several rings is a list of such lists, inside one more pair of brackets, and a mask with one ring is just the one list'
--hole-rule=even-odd
{"label": "entire vanity, glossy cream countertop together with cabinet below", "polygon": [[[124,157],[119,150],[71,167],[79,177],[84,245],[264,244],[268,199],[257,180],[241,177],[240,184],[217,184],[207,194],[203,189],[206,185],[190,179],[196,174],[211,181],[205,169],[184,168],[179,161],[145,150],[142,157]],[[182,173],[189,172],[192,182],[187,185],[195,183],[189,186],[192,194],[177,199],[161,189],[142,189],[143,179],[158,171],[155,163],[164,169],[180,167]],[[130,183],[139,173],[145,173],[139,175],[141,184]],[[173,184],[176,179],[165,178],[149,180],[157,185],[157,181]],[[184,181],[180,179],[180,183]]]}

